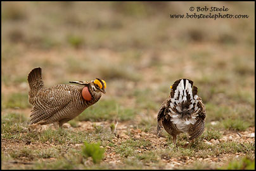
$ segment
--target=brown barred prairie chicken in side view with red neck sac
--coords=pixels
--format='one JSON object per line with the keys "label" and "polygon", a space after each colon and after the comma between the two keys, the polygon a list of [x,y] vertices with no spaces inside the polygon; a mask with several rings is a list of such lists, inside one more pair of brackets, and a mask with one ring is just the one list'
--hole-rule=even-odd
{"label": "brown barred prairie chicken in side view with red neck sac", "polygon": [[76,85],[54,85],[44,87],[41,68],[34,68],[28,76],[29,103],[34,106],[30,124],[58,124],[60,127],[77,117],[87,107],[98,102],[101,93],[106,93],[106,82],[99,78],[94,81],[69,81]]}

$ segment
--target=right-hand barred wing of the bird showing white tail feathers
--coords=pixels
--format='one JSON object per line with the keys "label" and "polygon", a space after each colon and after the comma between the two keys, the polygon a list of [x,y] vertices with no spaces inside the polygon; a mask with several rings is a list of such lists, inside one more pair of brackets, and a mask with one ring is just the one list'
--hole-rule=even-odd
{"label": "right-hand barred wing of the bird showing white tail feathers", "polygon": [[198,113],[198,116],[196,117],[196,123],[189,130],[189,140],[198,138],[198,136],[200,136],[205,129],[205,106],[203,105],[202,99],[200,97],[198,98],[198,106],[200,106],[201,110]]}

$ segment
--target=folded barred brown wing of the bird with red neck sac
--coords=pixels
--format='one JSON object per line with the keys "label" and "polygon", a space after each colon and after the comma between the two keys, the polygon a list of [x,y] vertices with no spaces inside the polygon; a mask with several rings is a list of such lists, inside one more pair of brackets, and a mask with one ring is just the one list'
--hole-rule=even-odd
{"label": "folded barred brown wing of the bird with red neck sac", "polygon": [[58,88],[48,88],[40,91],[33,99],[34,109],[30,114],[30,124],[52,117],[58,110],[63,109],[72,99],[70,91]]}

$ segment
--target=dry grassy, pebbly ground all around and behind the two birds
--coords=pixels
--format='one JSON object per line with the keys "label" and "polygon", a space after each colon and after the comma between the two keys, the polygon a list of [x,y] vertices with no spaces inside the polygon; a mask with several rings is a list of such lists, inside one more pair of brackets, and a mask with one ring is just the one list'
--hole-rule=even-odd
{"label": "dry grassy, pebbly ground all around and behind the two birds", "polygon": [[[254,167],[254,3],[203,5],[250,17],[169,18],[202,6],[196,2],[3,2],[2,168]],[[64,130],[30,131],[27,74],[37,66],[46,86],[101,78],[106,95]],[[207,122],[195,144],[181,135],[176,148],[155,131],[157,110],[179,78],[198,86]],[[101,142],[101,163],[82,156],[84,141]]]}

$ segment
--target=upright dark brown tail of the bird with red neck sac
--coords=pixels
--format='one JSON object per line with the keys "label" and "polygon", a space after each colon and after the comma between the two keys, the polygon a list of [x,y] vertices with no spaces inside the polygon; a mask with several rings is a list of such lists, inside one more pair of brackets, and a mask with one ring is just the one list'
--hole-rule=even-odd
{"label": "upright dark brown tail of the bird with red neck sac", "polygon": [[30,89],[41,88],[44,86],[44,83],[42,82],[42,69],[40,67],[32,69],[27,77],[27,81],[29,81]]}

